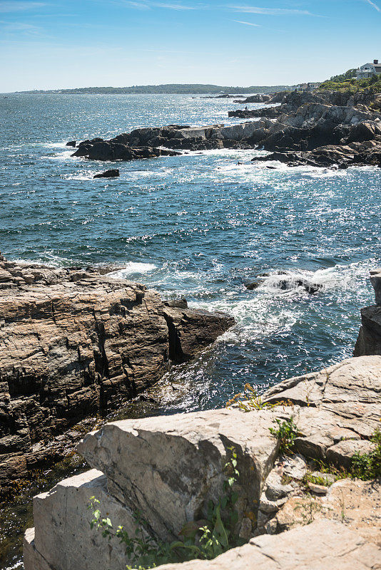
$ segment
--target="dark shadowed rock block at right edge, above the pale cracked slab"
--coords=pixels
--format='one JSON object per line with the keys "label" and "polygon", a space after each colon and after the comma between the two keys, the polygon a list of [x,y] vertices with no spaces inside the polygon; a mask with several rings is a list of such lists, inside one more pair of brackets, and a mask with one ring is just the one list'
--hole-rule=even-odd
{"label": "dark shadowed rock block at right edge, above the pale cracked slab", "polygon": [[353,356],[381,354],[381,269],[371,271],[376,304],[361,309],[361,328]]}

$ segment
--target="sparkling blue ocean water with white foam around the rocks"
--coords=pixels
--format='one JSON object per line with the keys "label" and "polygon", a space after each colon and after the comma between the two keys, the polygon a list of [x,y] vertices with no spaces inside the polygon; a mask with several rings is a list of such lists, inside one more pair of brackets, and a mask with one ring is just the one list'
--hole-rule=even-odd
{"label": "sparkling blue ocean water with white foam around the rocks", "polygon": [[[235,317],[213,347],[171,369],[154,413],[215,408],[246,382],[263,391],[351,356],[360,308],[374,300],[380,169],[270,170],[250,162],[262,151],[215,150],[121,162],[120,178],[93,180],[111,164],[72,158],[65,147],[140,126],[233,124],[227,114],[237,107],[192,95],[0,95],[8,259],[123,264],[116,276]],[[290,290],[279,271],[295,283]],[[260,287],[245,289],[260,274]],[[308,294],[298,279],[321,288]],[[31,496],[65,474],[47,475],[2,509],[1,567],[21,568]]]}

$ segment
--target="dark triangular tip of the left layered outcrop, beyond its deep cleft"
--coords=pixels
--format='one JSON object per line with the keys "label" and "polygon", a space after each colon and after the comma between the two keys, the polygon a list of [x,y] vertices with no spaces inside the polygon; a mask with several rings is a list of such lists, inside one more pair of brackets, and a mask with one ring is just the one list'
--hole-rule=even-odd
{"label": "dark triangular tip of the left layered outcrop, beyond its deep cleft", "polygon": [[175,362],[191,360],[235,324],[233,317],[219,312],[175,307],[165,307],[163,312],[168,325],[169,358]]}

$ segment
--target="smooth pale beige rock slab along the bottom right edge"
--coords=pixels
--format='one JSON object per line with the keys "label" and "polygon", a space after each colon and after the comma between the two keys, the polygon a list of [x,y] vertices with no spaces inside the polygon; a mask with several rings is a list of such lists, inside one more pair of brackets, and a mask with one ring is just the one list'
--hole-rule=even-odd
{"label": "smooth pale beige rock slab along the bottom right edge", "polygon": [[166,564],[161,570],[378,570],[381,549],[339,522],[322,520],[250,540],[218,558]]}

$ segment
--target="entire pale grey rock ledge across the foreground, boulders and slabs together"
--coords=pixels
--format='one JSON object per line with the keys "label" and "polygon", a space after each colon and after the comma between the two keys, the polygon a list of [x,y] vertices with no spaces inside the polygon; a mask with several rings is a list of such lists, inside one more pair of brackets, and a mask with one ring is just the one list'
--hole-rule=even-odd
{"label": "entire pale grey rock ledge across the foreground, boulders and slabs together", "polygon": [[[92,496],[114,524],[124,524],[128,531],[131,513],[138,509],[153,537],[177,538],[186,522],[203,518],[209,499],[221,496],[232,446],[240,472],[235,530],[248,544],[213,561],[168,568],[380,569],[376,535],[362,532],[365,524],[348,526],[346,517],[340,517],[340,501],[336,507],[331,502],[339,509],[337,520],[302,517],[300,522],[300,514],[294,514],[295,523],[311,524],[281,524],[285,504],[301,492],[308,460],[347,466],[355,452],[372,449],[370,437],[381,419],[380,393],[381,356],[362,356],[285,380],[265,393],[265,400],[277,403],[273,408],[248,413],[228,408],[103,425],[78,445],[92,469],[34,498],[34,529],[26,532],[24,542],[25,570],[125,567],[123,546],[105,542],[90,529],[87,504]],[[298,426],[295,455],[282,457],[269,428],[290,417]],[[367,492],[361,500],[366,517],[377,502]],[[379,525],[376,519],[369,518],[369,524]]]}

